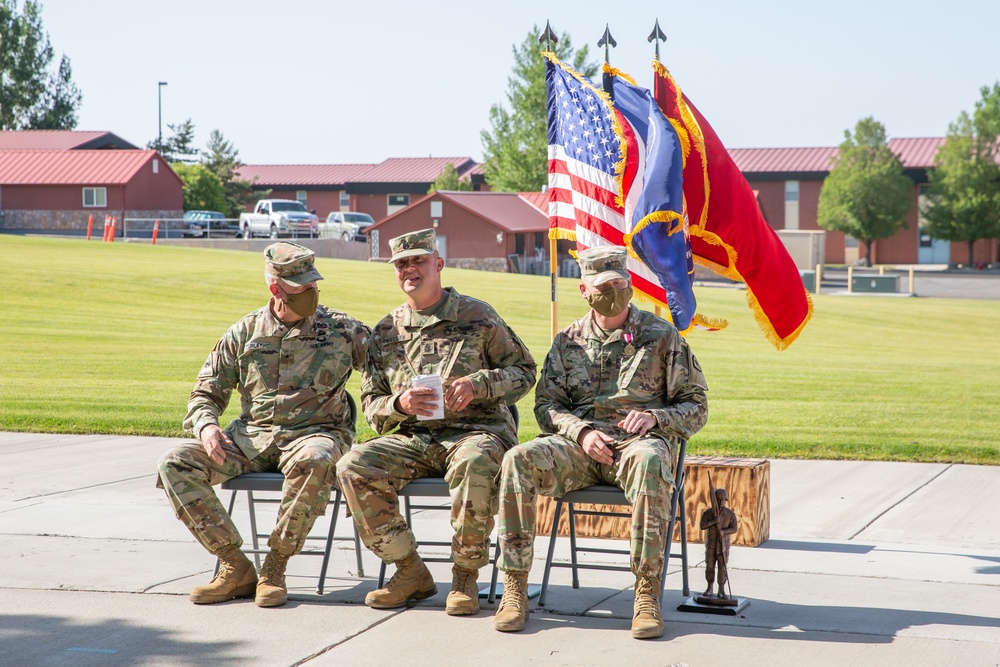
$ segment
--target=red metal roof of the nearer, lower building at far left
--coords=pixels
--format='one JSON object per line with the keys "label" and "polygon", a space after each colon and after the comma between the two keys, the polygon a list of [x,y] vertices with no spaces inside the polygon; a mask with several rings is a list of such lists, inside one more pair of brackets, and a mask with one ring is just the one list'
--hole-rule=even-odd
{"label": "red metal roof of the nearer, lower building at far left", "polygon": [[[0,185],[118,185],[155,157],[151,150],[4,150]],[[169,169],[165,162],[160,168]]]}

